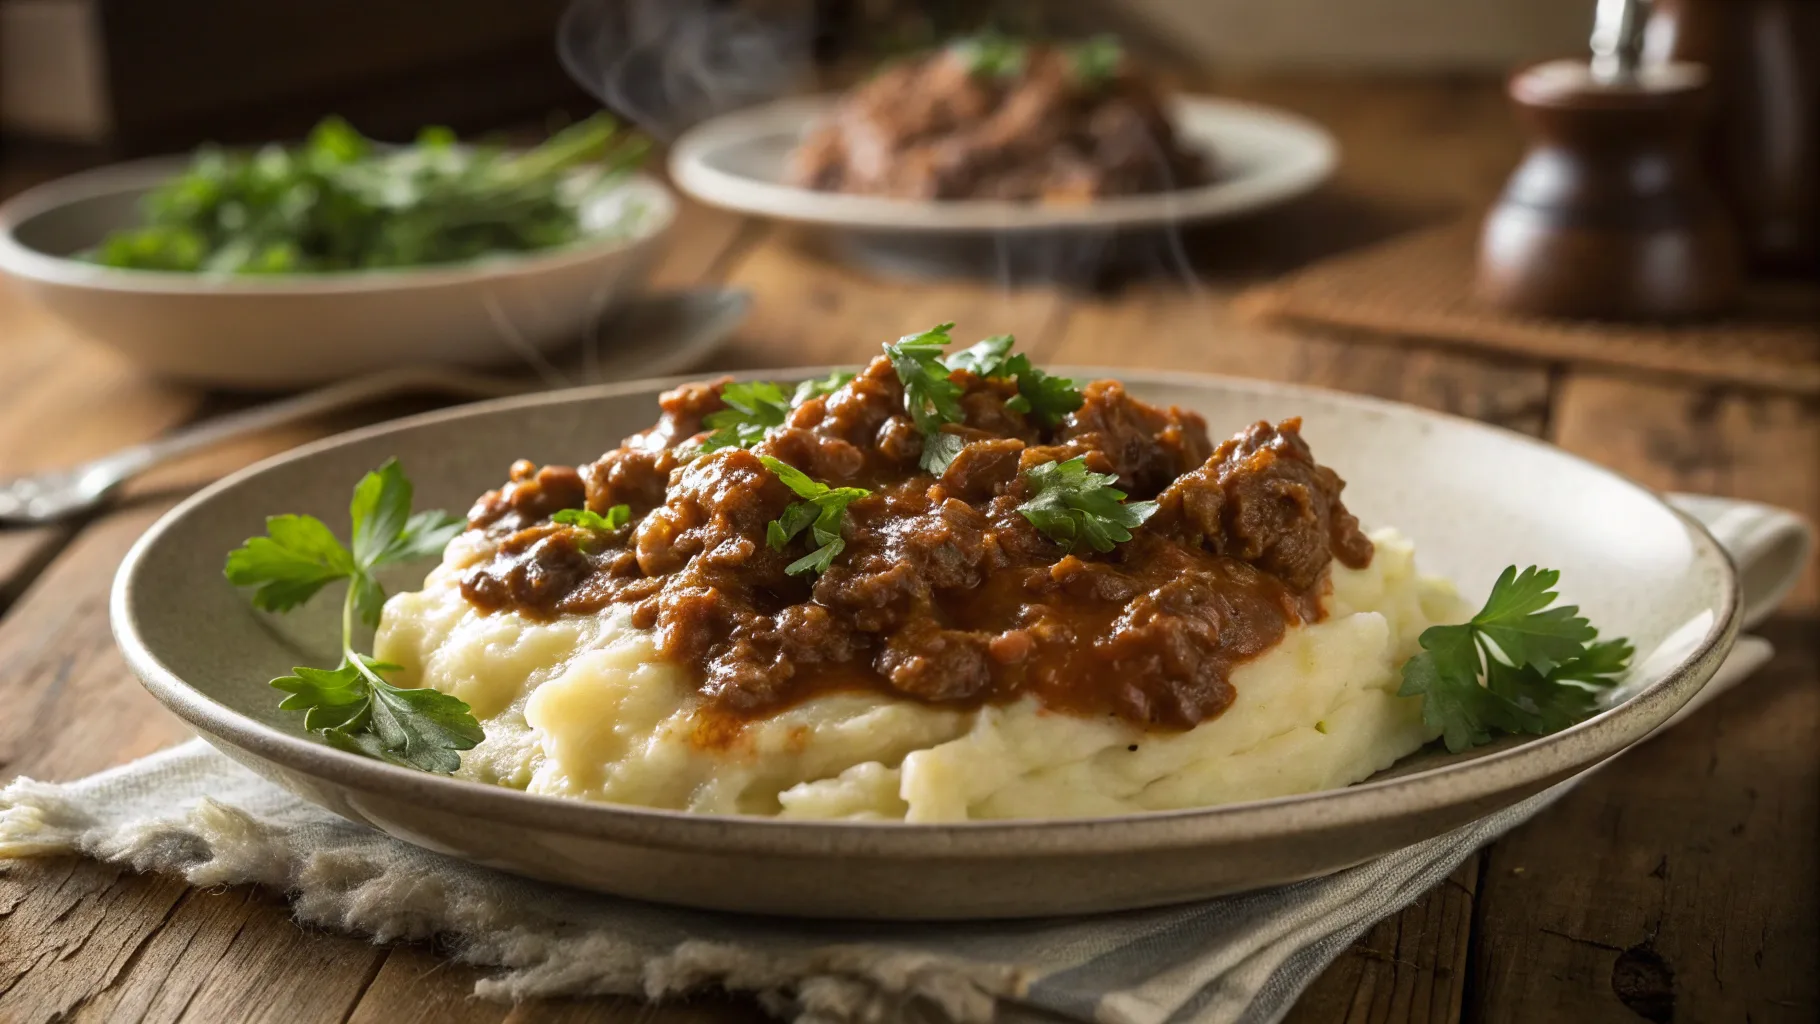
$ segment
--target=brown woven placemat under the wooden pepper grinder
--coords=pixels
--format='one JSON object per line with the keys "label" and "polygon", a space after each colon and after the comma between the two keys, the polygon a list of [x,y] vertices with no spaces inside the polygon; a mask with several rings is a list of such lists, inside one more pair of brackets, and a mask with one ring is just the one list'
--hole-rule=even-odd
{"label": "brown woven placemat under the wooden pepper grinder", "polygon": [[1236,304],[1249,316],[1363,338],[1425,338],[1820,395],[1820,286],[1753,286],[1736,313],[1700,324],[1551,320],[1474,302],[1476,247],[1478,222],[1454,222],[1323,260]]}

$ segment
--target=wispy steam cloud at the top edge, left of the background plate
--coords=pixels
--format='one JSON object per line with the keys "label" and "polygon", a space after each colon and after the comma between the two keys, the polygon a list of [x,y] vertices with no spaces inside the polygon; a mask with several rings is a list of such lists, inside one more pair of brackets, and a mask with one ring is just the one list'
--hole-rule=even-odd
{"label": "wispy steam cloud at the top edge, left of the background plate", "polygon": [[575,0],[557,53],[595,98],[673,140],[703,118],[788,91],[810,64],[810,25],[713,0]]}

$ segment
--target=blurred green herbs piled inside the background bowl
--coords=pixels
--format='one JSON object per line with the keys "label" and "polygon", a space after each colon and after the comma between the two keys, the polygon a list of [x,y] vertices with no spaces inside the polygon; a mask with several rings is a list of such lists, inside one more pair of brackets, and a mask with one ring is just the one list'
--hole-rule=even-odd
{"label": "blurred green herbs piled inside the background bowl", "polygon": [[271,275],[553,249],[602,227],[588,224],[586,200],[648,147],[606,115],[517,153],[459,146],[446,127],[426,127],[411,146],[380,146],[331,116],[300,146],[197,151],[184,173],[140,200],[144,224],[111,231],[84,258]]}

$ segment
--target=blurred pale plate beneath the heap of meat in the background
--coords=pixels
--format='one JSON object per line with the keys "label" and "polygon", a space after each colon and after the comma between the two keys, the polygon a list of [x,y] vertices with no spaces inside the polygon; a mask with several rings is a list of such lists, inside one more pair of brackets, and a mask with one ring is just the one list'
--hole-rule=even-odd
{"label": "blurred pale plate beneath the heap of meat in the background", "polygon": [[790,151],[835,96],[750,107],[690,129],[670,151],[670,175],[695,198],[779,220],[859,231],[1050,231],[1159,227],[1236,216],[1294,198],[1334,169],[1336,146],[1299,116],[1210,96],[1176,96],[1176,129],[1214,155],[1210,184],[1061,206],[1006,200],[905,200],[819,193],[784,182]]}

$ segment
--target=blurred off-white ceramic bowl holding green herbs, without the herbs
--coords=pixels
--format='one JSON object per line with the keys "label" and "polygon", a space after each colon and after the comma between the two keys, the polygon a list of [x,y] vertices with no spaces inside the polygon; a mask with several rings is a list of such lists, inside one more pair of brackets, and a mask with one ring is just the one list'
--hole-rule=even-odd
{"label": "blurred off-white ceramic bowl holding green herbs, without the herbs", "polygon": [[675,198],[635,175],[602,195],[626,231],[464,264],[322,275],[204,276],[71,258],[138,222],[140,196],[187,158],[102,167],[0,206],[0,273],[84,336],[173,378],[298,387],[406,364],[490,366],[593,329],[650,269]]}

